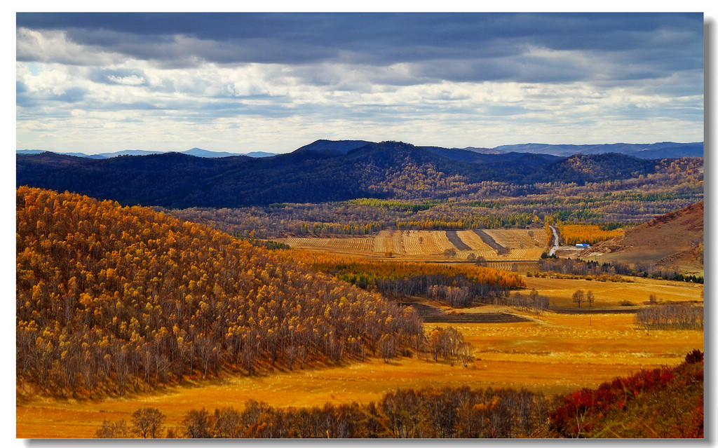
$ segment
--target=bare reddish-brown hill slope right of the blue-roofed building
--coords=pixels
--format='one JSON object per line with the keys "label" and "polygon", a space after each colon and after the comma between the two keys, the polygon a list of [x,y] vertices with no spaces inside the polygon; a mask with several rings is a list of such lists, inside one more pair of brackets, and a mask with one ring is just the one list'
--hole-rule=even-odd
{"label": "bare reddish-brown hill slope right of the blue-roofed building", "polygon": [[681,271],[703,270],[703,202],[657,216],[622,236],[582,251],[581,258],[652,262]]}

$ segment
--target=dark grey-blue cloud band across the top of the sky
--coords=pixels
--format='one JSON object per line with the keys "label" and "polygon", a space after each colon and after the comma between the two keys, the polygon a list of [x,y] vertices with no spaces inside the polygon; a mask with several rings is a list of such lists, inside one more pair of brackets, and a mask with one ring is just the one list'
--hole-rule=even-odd
{"label": "dark grey-blue cloud band across the top of the sky", "polygon": [[[616,53],[667,71],[702,67],[703,56],[702,14],[19,13],[17,27],[64,30],[79,44],[167,67],[203,61],[386,66],[521,57],[542,47]],[[567,69],[573,74],[565,78],[582,76],[561,67]],[[456,79],[516,77],[526,78],[521,67],[517,74],[495,64]]]}

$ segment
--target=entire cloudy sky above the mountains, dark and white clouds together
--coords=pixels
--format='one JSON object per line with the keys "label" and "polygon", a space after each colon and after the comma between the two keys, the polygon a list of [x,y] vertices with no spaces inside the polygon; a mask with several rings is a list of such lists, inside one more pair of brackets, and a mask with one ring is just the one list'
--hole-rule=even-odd
{"label": "entire cloudy sky above the mountains, dark and white clouds together", "polygon": [[17,149],[703,141],[702,14],[17,14]]}

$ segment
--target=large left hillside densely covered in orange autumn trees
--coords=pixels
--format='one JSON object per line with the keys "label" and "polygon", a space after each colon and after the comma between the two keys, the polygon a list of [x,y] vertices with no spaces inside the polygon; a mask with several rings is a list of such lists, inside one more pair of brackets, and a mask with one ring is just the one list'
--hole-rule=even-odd
{"label": "large left hillside densely covered in orange autumn trees", "polygon": [[[17,189],[17,375],[97,396],[415,346],[421,323],[225,233],[144,207]],[[387,355],[386,353],[382,353]]]}

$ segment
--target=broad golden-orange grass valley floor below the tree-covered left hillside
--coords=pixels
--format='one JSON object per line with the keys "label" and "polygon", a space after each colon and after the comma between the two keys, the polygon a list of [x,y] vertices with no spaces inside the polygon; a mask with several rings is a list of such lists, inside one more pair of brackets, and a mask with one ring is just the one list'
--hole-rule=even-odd
{"label": "broad golden-orange grass valley floor below the tree-covered left hillside", "polygon": [[[614,284],[528,277],[526,282],[529,288],[535,287],[549,297],[551,306],[561,307],[576,307],[570,299],[576,289],[592,289],[598,308],[616,307],[623,299],[638,304],[647,301],[651,293],[664,300],[702,302],[703,290],[702,285],[649,279]],[[392,363],[370,358],[361,363],[261,377],[186,383],[124,398],[75,401],[18,396],[17,437],[93,437],[103,420],[126,419],[129,423],[131,413],[144,406],[162,411],[167,427],[180,424],[190,409],[241,409],[248,399],[274,406],[321,406],[327,401],[376,401],[396,388],[424,386],[526,387],[551,396],[595,387],[640,368],[676,365],[690,350],[704,349],[702,331],[646,332],[635,326],[633,314],[546,312],[536,317],[493,305],[462,312],[514,312],[531,320],[452,324],[474,347],[475,360],[467,368],[424,358],[402,358]],[[427,330],[434,325],[447,324],[427,324]]]}

